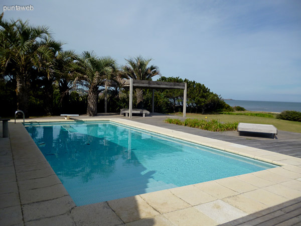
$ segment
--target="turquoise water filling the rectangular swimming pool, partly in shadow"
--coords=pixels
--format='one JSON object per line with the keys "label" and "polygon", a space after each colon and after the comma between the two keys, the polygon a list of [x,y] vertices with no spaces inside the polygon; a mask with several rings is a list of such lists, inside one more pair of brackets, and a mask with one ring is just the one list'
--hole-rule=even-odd
{"label": "turquoise water filling the rectangular swimming pool, partly in shadow", "polygon": [[109,122],[26,129],[77,205],[275,167]]}

